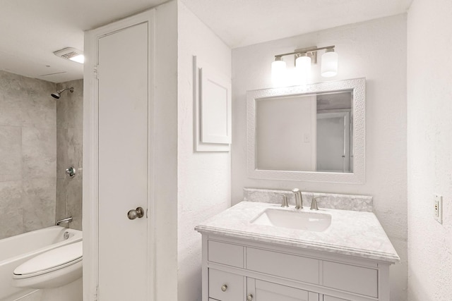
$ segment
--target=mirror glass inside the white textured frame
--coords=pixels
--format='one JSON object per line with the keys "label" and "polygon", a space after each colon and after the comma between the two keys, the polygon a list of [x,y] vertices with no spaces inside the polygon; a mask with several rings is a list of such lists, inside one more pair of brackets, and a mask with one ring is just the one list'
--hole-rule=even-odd
{"label": "mirror glass inside the white textured frame", "polygon": [[353,91],[256,99],[256,167],[351,173]]}

